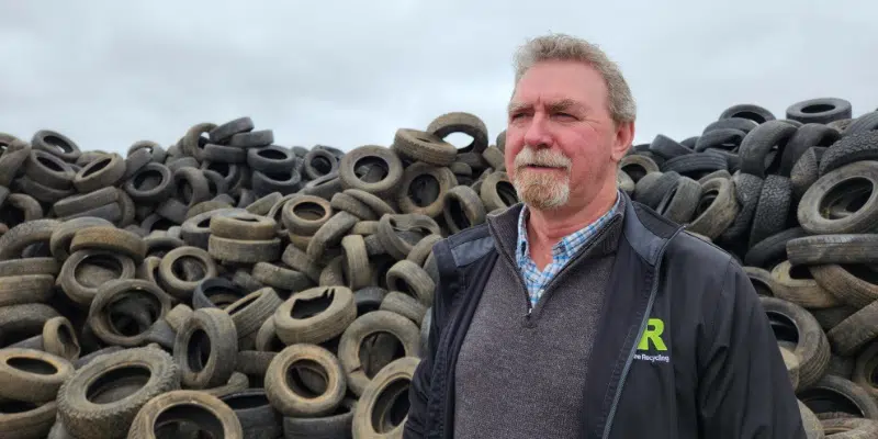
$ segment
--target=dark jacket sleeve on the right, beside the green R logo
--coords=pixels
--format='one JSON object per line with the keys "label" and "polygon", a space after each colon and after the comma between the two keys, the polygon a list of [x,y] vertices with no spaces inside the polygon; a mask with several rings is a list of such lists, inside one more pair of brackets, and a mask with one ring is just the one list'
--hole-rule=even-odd
{"label": "dark jacket sleeve on the right, beside the green R logo", "polygon": [[[702,438],[806,438],[798,402],[753,284],[731,260],[705,302],[698,349]],[[712,308],[711,308],[712,307]]]}

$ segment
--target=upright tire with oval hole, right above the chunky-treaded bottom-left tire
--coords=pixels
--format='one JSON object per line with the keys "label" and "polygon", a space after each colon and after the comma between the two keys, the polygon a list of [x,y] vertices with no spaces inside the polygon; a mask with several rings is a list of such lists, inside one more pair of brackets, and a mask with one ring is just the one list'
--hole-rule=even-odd
{"label": "upright tire with oval hole, right above the chunky-treaded bottom-left tire", "polygon": [[223,309],[195,309],[177,331],[173,359],[180,381],[189,389],[223,385],[235,371],[238,336],[235,323]]}

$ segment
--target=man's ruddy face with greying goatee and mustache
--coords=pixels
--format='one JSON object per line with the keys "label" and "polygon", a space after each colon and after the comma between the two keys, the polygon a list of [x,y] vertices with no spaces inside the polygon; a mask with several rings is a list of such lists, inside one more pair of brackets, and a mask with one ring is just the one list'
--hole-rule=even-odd
{"label": "man's ruddy face with greying goatee and mustache", "polygon": [[[551,210],[586,204],[615,184],[624,154],[597,70],[581,63],[544,61],[516,86],[506,128],[506,169],[526,204]],[[627,145],[624,145],[627,147]]]}

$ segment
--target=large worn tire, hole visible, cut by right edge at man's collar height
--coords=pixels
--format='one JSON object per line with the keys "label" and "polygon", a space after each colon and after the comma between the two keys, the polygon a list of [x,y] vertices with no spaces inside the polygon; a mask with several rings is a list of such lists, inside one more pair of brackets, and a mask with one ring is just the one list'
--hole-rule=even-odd
{"label": "large worn tire, hole visible, cut by right edge at man's collar height", "polygon": [[[825,211],[838,199],[842,189],[849,191],[852,181],[867,180],[871,193],[860,209],[841,217],[826,217]],[[847,188],[844,188],[845,185]],[[818,179],[802,195],[797,217],[799,224],[812,235],[858,234],[875,229],[878,223],[878,161],[856,161],[834,169]]]}

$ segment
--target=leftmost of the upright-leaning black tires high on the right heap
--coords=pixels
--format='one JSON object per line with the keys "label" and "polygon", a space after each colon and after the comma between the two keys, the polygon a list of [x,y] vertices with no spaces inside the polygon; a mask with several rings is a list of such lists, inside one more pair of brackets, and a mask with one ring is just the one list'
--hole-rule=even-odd
{"label": "leftmost of the upright-leaning black tires high on the right heap", "polygon": [[[765,178],[766,172],[779,168],[783,151],[796,134],[797,128],[781,121],[769,121],[761,124],[741,142],[739,155],[741,157],[741,172],[752,173]],[[772,164],[767,164],[768,153],[777,146],[779,157],[775,156]],[[777,165],[777,166],[775,166]]]}

